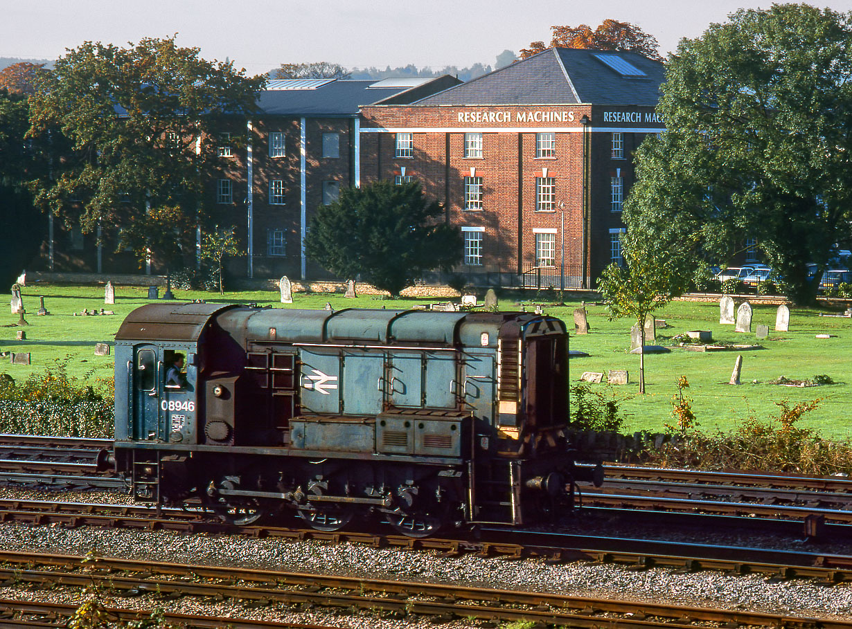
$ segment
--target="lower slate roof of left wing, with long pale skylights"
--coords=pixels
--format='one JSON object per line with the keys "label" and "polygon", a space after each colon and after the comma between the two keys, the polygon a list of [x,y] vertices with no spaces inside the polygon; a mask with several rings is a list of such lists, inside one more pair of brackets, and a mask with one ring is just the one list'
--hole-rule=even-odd
{"label": "lower slate roof of left wing, with long pale skylights", "polygon": [[[286,85],[276,86],[278,89],[264,89],[257,99],[257,105],[263,113],[277,116],[356,116],[361,106],[372,105],[394,96],[405,103],[411,102],[422,94],[415,90],[429,90],[429,83],[433,82],[435,88],[429,91],[434,93],[443,87],[441,79],[444,78],[420,79],[416,84],[411,81],[391,83],[387,80],[332,80],[321,84],[308,81],[302,82],[303,89],[300,89],[297,81],[291,81]],[[381,83],[389,87],[383,87]],[[408,90],[412,90],[411,99],[405,98]]]}

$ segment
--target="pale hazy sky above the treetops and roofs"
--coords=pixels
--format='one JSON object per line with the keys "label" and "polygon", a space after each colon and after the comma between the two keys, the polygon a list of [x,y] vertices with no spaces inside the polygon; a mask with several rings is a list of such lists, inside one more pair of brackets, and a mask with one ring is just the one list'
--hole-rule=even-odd
{"label": "pale hazy sky above the treetops and roofs", "polygon": [[[663,54],[699,37],[746,0],[0,0],[0,57],[55,59],[95,41],[125,45],[170,37],[208,60],[233,60],[249,74],[282,63],[342,66],[493,65],[505,49],[550,41],[550,26],[592,28],[612,18],[657,37]],[[852,0],[815,2],[838,11]]]}

